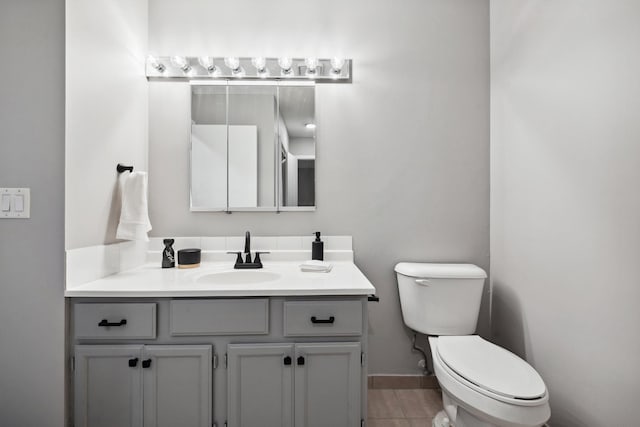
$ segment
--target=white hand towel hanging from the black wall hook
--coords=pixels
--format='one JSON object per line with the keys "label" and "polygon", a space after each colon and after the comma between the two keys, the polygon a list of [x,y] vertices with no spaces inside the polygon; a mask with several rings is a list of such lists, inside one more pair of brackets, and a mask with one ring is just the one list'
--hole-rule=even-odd
{"label": "white hand towel hanging from the black wall hook", "polygon": [[151,222],[147,202],[147,173],[124,172],[120,180],[122,210],[116,238],[148,242]]}

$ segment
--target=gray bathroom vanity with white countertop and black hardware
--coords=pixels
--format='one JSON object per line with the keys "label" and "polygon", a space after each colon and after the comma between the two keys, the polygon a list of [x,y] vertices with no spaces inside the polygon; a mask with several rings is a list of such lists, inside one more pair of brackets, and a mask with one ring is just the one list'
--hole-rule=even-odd
{"label": "gray bathroom vanity with white countertop and black hardware", "polygon": [[350,261],[298,264],[156,263],[67,289],[74,425],[364,425],[375,289]]}

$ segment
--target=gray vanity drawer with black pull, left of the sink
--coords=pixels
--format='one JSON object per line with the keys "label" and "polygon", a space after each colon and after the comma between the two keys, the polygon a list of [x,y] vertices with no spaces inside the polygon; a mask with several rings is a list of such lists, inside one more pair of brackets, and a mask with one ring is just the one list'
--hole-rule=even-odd
{"label": "gray vanity drawer with black pull, left of the sink", "polygon": [[75,304],[76,339],[154,339],[156,304]]}

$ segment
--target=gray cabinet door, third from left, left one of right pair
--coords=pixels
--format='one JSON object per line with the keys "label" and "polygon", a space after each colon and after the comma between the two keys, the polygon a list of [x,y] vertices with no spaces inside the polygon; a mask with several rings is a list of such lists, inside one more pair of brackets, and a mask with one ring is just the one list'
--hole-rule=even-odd
{"label": "gray cabinet door, third from left, left one of right pair", "polygon": [[227,349],[228,427],[292,427],[293,344]]}

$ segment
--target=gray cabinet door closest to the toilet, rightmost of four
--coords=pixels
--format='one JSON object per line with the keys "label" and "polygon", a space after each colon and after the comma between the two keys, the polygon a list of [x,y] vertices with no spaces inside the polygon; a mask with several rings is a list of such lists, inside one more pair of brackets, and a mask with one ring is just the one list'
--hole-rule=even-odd
{"label": "gray cabinet door closest to the toilet, rightmost of four", "polygon": [[360,343],[295,346],[295,427],[360,426]]}

